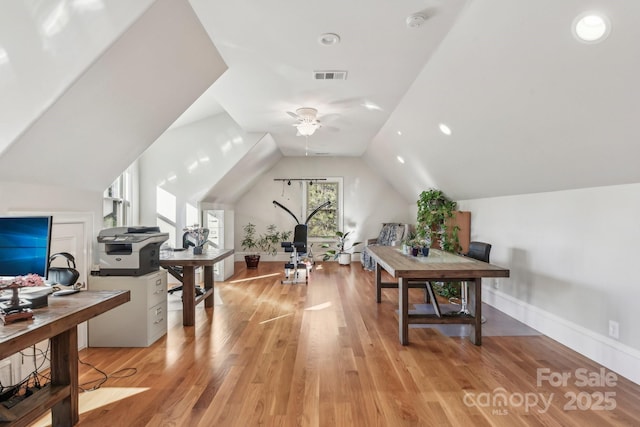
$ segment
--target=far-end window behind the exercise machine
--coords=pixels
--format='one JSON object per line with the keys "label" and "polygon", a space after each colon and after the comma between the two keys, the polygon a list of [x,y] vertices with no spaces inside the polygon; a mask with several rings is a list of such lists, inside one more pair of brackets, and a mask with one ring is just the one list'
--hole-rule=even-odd
{"label": "far-end window behind the exercise machine", "polygon": [[327,178],[326,181],[309,181],[304,185],[306,219],[323,203],[331,205],[320,209],[309,220],[307,236],[316,239],[332,239],[342,229],[342,178]]}

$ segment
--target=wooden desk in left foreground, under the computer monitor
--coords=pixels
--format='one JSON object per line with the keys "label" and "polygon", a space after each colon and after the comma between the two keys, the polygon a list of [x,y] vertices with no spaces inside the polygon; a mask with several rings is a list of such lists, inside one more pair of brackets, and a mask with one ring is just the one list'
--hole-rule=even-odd
{"label": "wooden desk in left foreground, under the computer monitor", "polygon": [[78,422],[78,324],[129,301],[129,291],[83,291],[49,297],[33,319],[0,325],[0,359],[51,339],[51,383],[13,408],[0,405],[0,426],[24,426],[51,408],[54,426]]}

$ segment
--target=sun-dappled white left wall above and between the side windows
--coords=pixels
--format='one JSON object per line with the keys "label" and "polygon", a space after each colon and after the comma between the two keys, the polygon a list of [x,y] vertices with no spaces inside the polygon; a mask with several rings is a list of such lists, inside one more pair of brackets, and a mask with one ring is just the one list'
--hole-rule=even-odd
{"label": "sun-dappled white left wall above and between the side windows", "polygon": [[226,113],[165,132],[139,159],[140,223],[155,225],[156,186],[160,186],[176,196],[178,230],[182,230],[187,225],[186,203],[197,207],[262,136],[243,132]]}

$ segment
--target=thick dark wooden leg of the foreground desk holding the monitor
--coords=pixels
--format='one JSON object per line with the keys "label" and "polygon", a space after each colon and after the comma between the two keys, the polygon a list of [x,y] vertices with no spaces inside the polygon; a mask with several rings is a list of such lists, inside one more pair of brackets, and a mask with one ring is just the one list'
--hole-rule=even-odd
{"label": "thick dark wooden leg of the foreground desk holding the monitor", "polygon": [[78,329],[76,326],[51,338],[51,384],[69,385],[69,396],[51,408],[54,426],[78,423]]}

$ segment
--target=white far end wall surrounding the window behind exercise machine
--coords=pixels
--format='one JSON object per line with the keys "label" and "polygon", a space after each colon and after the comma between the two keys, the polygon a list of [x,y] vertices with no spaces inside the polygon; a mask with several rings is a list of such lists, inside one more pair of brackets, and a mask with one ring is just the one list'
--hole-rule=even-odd
{"label": "white far end wall surrounding the window behind exercise machine", "polygon": [[[354,232],[355,241],[375,238],[383,222],[411,222],[407,202],[360,158],[355,157],[284,157],[235,206],[236,259],[243,259],[240,242],[242,228],[248,222],[264,232],[269,224],[279,230],[293,231],[296,222],[284,210],[274,207],[276,200],[291,210],[300,222],[306,215],[300,212],[300,185],[283,185],[274,178],[342,177],[344,184],[344,230]],[[314,255],[321,253],[314,247]]]}

